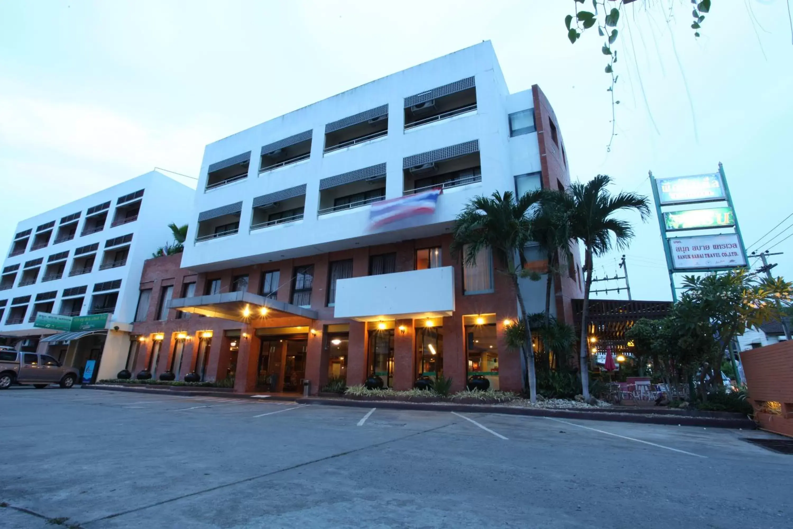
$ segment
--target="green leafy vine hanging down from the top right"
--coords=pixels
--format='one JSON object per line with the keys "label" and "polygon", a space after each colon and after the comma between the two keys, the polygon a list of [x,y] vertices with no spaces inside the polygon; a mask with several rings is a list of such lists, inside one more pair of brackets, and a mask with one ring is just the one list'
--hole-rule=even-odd
{"label": "green leafy vine hanging down from the top right", "polygon": [[[643,0],[643,5],[646,7],[649,0]],[[608,3],[607,3],[608,2]],[[611,145],[614,143],[614,138],[617,136],[615,122],[616,122],[616,105],[619,105],[619,99],[615,98],[615,86],[619,80],[619,75],[615,73],[615,63],[617,63],[617,49],[615,43],[619,37],[619,30],[617,24],[619,17],[622,13],[623,7],[636,2],[636,0],[592,0],[593,11],[579,10],[578,4],[586,3],[586,0],[573,0],[573,11],[575,14],[569,14],[565,17],[565,26],[567,27],[567,37],[571,44],[581,38],[581,34],[586,30],[597,26],[598,35],[603,37],[603,52],[604,56],[608,57],[608,63],[604,71],[611,79],[607,91],[611,95],[611,137],[609,138],[607,151],[611,151]],[[699,37],[699,29],[702,28],[702,23],[705,20],[703,13],[711,11],[711,0],[691,0],[693,10],[691,11],[691,29],[694,30],[694,36]],[[669,7],[670,16],[672,6]]]}

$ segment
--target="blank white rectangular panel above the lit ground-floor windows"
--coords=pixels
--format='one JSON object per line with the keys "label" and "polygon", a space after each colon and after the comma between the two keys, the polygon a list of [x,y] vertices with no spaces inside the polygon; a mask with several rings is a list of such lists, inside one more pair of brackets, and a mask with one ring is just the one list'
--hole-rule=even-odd
{"label": "blank white rectangular panel above the lit ground-floor windows", "polygon": [[454,267],[339,279],[334,317],[358,321],[437,318],[454,312]]}

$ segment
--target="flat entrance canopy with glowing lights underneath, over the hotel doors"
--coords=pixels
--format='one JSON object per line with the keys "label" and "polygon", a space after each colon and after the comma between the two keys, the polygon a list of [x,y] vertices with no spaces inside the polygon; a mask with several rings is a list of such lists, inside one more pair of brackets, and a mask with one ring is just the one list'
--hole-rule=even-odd
{"label": "flat entrance canopy with glowing lights underneath, over the hotel doors", "polygon": [[262,317],[265,309],[266,317],[287,318],[301,316],[308,320],[319,320],[316,310],[304,309],[283,301],[259,296],[250,292],[227,292],[210,294],[209,296],[178,297],[170,300],[170,308],[193,314],[203,314],[213,318],[223,318],[248,322]]}

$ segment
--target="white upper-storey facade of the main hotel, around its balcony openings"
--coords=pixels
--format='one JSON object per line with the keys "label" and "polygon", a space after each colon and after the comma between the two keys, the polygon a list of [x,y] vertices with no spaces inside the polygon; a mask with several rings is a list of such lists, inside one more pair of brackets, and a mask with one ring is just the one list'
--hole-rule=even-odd
{"label": "white upper-storey facade of the main hotel, around its balcony openings", "polygon": [[[471,77],[476,88],[476,109],[404,128],[405,98]],[[386,136],[327,151],[326,125],[382,105],[388,105]],[[509,94],[492,44],[487,41],[209,144],[201,165],[201,179],[190,218],[191,235],[182,266],[198,271],[221,270],[446,232],[472,197],[489,195],[496,190],[515,191],[515,175],[541,171],[537,132],[511,137],[508,119],[510,113],[533,107],[531,90]],[[273,171],[259,171],[263,146],[306,131],[312,131],[308,159]],[[418,225],[394,224],[372,231],[369,205],[320,214],[320,209],[327,209],[343,194],[342,191],[320,191],[323,178],[385,163],[385,199],[401,197],[410,190],[405,185],[404,159],[473,140],[478,141],[481,181],[444,189],[435,213],[419,217]],[[251,155],[247,178],[235,177],[239,179],[220,186],[213,183],[211,189],[206,189],[210,166],[248,151]],[[371,189],[365,182],[358,183],[358,187],[348,187],[351,193]],[[305,185],[302,219],[250,229],[251,224],[256,224],[252,219],[255,197],[302,185]],[[202,212],[236,205],[240,201],[239,232],[195,240],[200,232],[198,218]]]}

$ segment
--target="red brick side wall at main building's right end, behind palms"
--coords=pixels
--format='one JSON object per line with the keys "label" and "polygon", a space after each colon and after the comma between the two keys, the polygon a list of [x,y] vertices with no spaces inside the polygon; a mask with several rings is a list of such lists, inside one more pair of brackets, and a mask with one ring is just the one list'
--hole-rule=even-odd
{"label": "red brick side wall at main building's right end, behind palms", "polygon": [[[556,118],[554,109],[546,95],[542,93],[540,87],[531,87],[534,95],[534,122],[537,127],[537,140],[540,148],[540,164],[542,167],[542,187],[544,189],[557,190],[559,184],[565,189],[570,185],[570,171],[567,164],[565,143],[562,140],[561,126]],[[551,137],[550,124],[553,123],[557,129],[557,142]],[[573,264],[575,266],[573,278],[569,274],[557,274],[555,280],[555,296],[557,315],[561,320],[568,324],[573,324],[573,302],[574,298],[580,299],[584,296],[583,277],[581,276],[580,251],[578,243],[573,243],[570,248],[573,252]]]}

